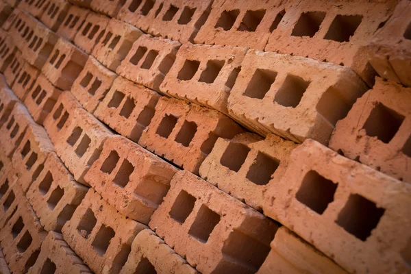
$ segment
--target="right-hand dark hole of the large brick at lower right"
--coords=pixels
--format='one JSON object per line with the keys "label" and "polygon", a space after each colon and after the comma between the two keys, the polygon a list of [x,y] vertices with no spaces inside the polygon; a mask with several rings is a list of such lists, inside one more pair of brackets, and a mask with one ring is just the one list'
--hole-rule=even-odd
{"label": "right-hand dark hole of the large brick at lower right", "polygon": [[365,241],[377,227],[384,212],[384,208],[377,208],[373,201],[358,194],[351,194],[338,214],[336,223],[353,236]]}

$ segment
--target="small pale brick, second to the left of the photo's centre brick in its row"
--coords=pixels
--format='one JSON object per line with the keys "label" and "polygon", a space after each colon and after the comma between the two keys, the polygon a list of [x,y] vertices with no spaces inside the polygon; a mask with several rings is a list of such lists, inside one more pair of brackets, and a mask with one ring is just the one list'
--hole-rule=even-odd
{"label": "small pale brick, second to the left of the photo's centre brick in its row", "polygon": [[83,108],[93,113],[105,98],[116,77],[116,73],[105,68],[90,55],[84,69],[73,83],[71,93],[83,105]]}

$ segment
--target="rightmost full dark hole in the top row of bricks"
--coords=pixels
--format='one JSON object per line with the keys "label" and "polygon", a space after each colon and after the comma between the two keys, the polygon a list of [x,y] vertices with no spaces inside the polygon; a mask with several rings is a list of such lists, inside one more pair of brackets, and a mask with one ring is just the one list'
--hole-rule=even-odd
{"label": "rightmost full dark hole in the top row of bricks", "polygon": [[348,42],[354,35],[356,29],[362,21],[361,15],[341,15],[338,14],[329,26],[324,39],[337,42]]}

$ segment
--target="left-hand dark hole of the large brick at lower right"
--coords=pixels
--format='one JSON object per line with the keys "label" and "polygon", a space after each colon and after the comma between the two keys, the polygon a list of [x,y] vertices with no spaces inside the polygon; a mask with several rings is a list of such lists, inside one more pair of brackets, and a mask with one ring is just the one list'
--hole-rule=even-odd
{"label": "left-hand dark hole of the large brick at lower right", "polygon": [[328,204],[334,201],[337,186],[316,171],[308,171],[295,198],[318,214],[323,214]]}

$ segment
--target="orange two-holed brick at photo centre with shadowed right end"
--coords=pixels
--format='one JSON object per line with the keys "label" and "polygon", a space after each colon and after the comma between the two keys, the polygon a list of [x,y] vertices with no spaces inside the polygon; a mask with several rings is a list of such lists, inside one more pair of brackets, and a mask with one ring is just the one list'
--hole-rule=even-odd
{"label": "orange two-holed brick at photo centre with shadowed right end", "polygon": [[198,174],[218,137],[233,138],[243,129],[216,110],[177,99],[160,98],[139,145]]}

